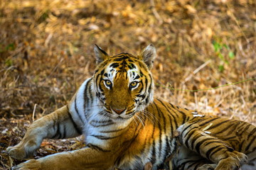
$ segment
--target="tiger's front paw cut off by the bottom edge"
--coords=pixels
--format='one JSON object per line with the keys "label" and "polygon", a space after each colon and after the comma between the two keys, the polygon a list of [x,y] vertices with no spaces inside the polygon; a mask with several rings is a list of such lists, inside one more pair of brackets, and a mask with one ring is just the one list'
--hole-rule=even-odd
{"label": "tiger's front paw cut off by the bottom edge", "polygon": [[41,162],[31,159],[11,168],[11,170],[41,170]]}

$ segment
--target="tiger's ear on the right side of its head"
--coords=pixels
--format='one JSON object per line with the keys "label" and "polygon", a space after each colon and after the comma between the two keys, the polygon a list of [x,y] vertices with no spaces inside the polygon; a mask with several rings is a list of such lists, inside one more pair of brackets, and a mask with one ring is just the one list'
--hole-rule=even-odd
{"label": "tiger's ear on the right side of its head", "polygon": [[142,50],[139,55],[139,59],[143,60],[143,62],[147,65],[149,69],[153,67],[154,60],[156,58],[156,48],[154,45],[148,45]]}

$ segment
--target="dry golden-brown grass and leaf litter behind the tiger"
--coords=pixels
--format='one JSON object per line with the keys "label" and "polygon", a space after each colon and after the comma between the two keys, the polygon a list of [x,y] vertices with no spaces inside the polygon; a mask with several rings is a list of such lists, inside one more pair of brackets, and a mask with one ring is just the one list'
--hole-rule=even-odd
{"label": "dry golden-brown grass and leaf litter behind the tiger", "polygon": [[[95,43],[111,55],[153,43],[156,96],[256,125],[255,80],[170,89],[255,79],[255,22],[252,0],[0,0],[0,149],[21,140],[34,109],[67,103],[94,71]],[[18,163],[0,154],[4,169]]]}

